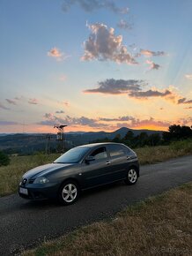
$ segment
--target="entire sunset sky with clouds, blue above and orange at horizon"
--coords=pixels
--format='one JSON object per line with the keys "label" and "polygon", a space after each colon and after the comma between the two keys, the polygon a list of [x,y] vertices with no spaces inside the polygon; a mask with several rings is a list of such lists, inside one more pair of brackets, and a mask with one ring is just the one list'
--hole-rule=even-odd
{"label": "entire sunset sky with clouds, blue above and orange at horizon", "polygon": [[191,0],[1,0],[0,132],[192,125]]}

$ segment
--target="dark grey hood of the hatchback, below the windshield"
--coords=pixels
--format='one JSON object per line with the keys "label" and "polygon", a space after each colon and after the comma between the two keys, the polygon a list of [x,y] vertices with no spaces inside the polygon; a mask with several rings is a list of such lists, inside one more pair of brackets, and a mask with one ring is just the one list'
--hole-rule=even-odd
{"label": "dark grey hood of the hatchback, below the windshield", "polygon": [[67,169],[68,167],[74,165],[75,163],[48,163],[45,165],[41,165],[35,167],[33,169],[28,170],[24,178],[36,178],[36,177],[43,177],[48,175],[49,173],[58,170],[58,169]]}

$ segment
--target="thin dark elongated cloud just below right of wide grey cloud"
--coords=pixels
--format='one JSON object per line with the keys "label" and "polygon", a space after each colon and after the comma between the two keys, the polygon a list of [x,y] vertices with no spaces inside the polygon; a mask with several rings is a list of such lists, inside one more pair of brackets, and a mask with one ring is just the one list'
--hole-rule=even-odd
{"label": "thin dark elongated cloud just below right of wide grey cloud", "polygon": [[130,92],[129,96],[134,98],[149,98],[149,97],[165,97],[166,95],[170,95],[172,92],[169,90],[165,90],[164,92],[160,92],[158,90],[148,90],[148,91],[138,91],[138,92]]}

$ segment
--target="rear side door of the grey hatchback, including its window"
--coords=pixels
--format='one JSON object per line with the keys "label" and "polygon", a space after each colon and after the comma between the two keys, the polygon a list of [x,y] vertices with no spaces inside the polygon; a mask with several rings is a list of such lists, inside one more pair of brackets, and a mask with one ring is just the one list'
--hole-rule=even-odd
{"label": "rear side door of the grey hatchback, including its window", "polygon": [[110,181],[120,180],[126,177],[129,169],[129,157],[121,145],[107,145],[110,162]]}

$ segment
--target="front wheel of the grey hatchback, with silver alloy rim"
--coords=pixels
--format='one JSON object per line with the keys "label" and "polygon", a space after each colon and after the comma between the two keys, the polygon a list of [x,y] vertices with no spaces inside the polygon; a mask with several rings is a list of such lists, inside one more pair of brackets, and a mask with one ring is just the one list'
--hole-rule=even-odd
{"label": "front wheel of the grey hatchback, with silver alloy rim", "polygon": [[78,200],[79,187],[75,181],[66,181],[59,190],[58,199],[61,204],[68,206]]}

